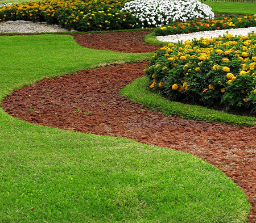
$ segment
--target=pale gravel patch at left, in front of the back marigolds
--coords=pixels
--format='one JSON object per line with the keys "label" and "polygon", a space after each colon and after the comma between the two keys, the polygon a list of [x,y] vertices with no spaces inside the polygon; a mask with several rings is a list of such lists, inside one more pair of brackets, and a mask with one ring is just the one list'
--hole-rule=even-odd
{"label": "pale gravel patch at left, in front of the back marigolds", "polygon": [[30,21],[16,20],[0,23],[0,33],[18,32],[18,33],[35,33],[35,32],[73,32],[61,28],[58,25],[48,25],[46,22],[33,23]]}

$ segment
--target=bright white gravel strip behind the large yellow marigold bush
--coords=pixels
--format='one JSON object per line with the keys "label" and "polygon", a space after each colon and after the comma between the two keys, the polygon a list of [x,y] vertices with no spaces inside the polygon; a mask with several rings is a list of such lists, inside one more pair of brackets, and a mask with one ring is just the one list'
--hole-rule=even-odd
{"label": "bright white gravel strip behind the large yellow marigold bush", "polygon": [[200,37],[211,38],[218,37],[219,35],[223,36],[226,33],[230,33],[233,36],[247,36],[249,32],[256,33],[256,27],[249,28],[237,28],[232,30],[214,30],[214,31],[205,31],[205,32],[193,32],[193,33],[185,33],[185,34],[176,34],[176,35],[168,35],[168,36],[156,36],[156,39],[159,41],[177,43],[178,41],[192,40],[192,39],[200,39]]}

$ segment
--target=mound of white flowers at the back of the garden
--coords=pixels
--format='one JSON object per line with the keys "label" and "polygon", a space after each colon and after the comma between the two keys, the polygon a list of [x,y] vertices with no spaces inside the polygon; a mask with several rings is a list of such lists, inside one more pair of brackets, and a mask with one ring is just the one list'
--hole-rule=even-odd
{"label": "mound of white flowers at the back of the garden", "polygon": [[137,26],[157,27],[171,21],[185,22],[193,18],[212,19],[212,8],[198,0],[135,0],[126,2],[121,11],[129,11]]}

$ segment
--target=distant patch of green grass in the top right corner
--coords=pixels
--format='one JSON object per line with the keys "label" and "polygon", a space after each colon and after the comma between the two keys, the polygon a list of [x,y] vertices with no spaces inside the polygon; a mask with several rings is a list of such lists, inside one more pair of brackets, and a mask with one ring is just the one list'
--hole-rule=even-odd
{"label": "distant patch of green grass in the top right corner", "polygon": [[213,12],[217,13],[232,13],[242,15],[256,14],[255,3],[245,2],[203,2],[205,5],[212,7]]}

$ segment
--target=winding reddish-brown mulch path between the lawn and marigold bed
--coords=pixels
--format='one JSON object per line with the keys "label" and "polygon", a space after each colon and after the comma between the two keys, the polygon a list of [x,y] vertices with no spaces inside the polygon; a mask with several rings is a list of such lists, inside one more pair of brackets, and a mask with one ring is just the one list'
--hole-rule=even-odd
{"label": "winding reddish-brown mulch path between the lawn and marigold bed", "polygon": [[[84,34],[81,34],[81,39],[80,34],[73,36],[78,43],[82,41],[82,45],[89,44],[89,41],[100,41],[94,35],[90,40]],[[105,33],[102,37],[107,36]],[[120,41],[125,39],[121,32],[118,36]],[[133,47],[143,48],[142,38],[134,36],[130,39],[133,39]],[[110,45],[109,49],[112,47]],[[126,48],[130,46],[125,45],[125,49],[121,48],[120,51]],[[221,123],[185,120],[148,110],[120,96],[120,89],[134,79],[143,77],[143,69],[147,64],[139,62],[107,66],[45,78],[15,90],[3,99],[1,106],[11,116],[34,124],[126,137],[196,155],[225,172],[246,193],[251,203],[249,222],[255,222],[256,126],[232,127]]]}

